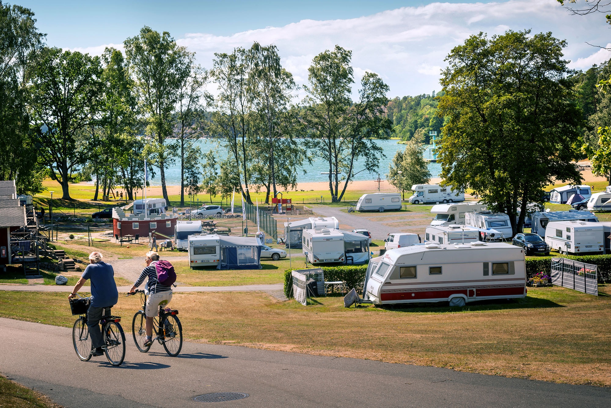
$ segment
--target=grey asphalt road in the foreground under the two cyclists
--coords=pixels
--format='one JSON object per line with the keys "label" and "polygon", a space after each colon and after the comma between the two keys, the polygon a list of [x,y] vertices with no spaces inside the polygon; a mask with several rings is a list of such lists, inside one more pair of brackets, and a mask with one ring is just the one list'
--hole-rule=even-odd
{"label": "grey asphalt road in the foreground under the two cyclists", "polygon": [[[128,322],[123,322],[128,326]],[[0,319],[0,371],[70,407],[200,407],[196,395],[243,392],[219,407],[607,407],[610,388],[563,385],[240,346],[185,343],[179,357],[136,351],[124,365],[81,362],[71,329]],[[305,333],[304,333],[305,334]],[[206,405],[207,406],[207,405]]]}

